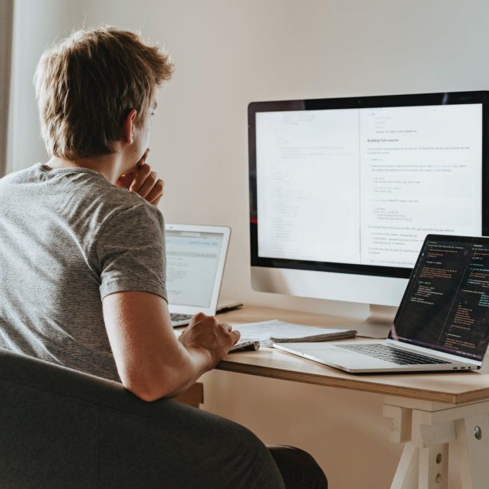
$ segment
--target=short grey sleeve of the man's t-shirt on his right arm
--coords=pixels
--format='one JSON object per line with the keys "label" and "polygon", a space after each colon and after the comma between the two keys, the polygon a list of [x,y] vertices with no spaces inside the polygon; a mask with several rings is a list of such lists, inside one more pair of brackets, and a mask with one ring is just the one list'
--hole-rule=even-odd
{"label": "short grey sleeve of the man's t-shirt on his right arm", "polygon": [[96,240],[101,270],[100,295],[121,291],[166,294],[165,230],[159,210],[138,203],[118,211]]}

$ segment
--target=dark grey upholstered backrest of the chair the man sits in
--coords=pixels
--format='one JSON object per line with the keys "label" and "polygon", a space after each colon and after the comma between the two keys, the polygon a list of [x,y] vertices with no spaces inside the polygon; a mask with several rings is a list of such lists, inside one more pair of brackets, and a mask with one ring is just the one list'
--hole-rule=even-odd
{"label": "dark grey upholstered backrest of the chair the man sits in", "polygon": [[0,488],[282,487],[236,423],[1,349],[0,439]]}

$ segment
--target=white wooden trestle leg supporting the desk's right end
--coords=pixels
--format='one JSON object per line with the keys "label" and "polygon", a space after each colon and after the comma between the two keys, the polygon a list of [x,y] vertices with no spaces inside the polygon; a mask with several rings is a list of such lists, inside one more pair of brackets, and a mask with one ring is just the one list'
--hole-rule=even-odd
{"label": "white wooden trestle leg supporting the desk's right end", "polygon": [[391,441],[404,443],[391,489],[447,489],[448,449],[457,444],[463,489],[489,488],[489,402],[451,404],[386,397]]}

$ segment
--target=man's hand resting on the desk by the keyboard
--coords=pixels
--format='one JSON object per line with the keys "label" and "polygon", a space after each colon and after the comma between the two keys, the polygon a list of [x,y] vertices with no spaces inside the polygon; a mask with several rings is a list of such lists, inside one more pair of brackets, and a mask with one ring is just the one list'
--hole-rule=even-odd
{"label": "man's hand resting on the desk by the keyboard", "polygon": [[227,355],[231,346],[240,339],[240,332],[228,323],[219,323],[214,316],[196,314],[179,341],[189,350],[204,349],[210,358],[209,369],[214,368]]}

